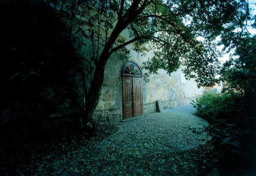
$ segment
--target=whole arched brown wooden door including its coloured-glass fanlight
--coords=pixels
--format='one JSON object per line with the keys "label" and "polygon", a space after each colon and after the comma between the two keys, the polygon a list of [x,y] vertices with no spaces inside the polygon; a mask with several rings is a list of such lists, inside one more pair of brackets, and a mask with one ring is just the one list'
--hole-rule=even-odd
{"label": "whole arched brown wooden door including its coloured-glass fanlight", "polygon": [[123,118],[143,115],[142,74],[136,63],[125,64],[122,69]]}

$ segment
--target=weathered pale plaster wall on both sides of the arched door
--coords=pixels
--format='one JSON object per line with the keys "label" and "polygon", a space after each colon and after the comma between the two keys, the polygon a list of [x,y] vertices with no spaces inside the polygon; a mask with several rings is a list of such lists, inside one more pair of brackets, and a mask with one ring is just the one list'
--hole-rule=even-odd
{"label": "weathered pale plaster wall on both sides of the arched door", "polygon": [[[148,54],[149,55],[149,54]],[[122,54],[115,53],[106,63],[104,83],[101,88],[99,104],[95,112],[96,122],[120,122],[122,120],[122,68],[125,63],[133,61],[140,67],[150,56],[138,56],[131,51],[130,59],[126,61]],[[144,74],[146,70],[142,70]],[[143,113],[156,112],[156,100],[163,102],[164,108],[188,104],[196,95],[202,95],[203,88],[198,89],[195,81],[186,80],[181,83],[181,69],[171,76],[164,70],[157,75],[150,75],[149,83],[143,81]]]}

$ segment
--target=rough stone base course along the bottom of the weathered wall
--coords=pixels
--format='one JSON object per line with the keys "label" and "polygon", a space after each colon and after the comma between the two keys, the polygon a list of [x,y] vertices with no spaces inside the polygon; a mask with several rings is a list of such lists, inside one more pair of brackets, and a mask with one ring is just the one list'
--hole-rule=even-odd
{"label": "rough stone base course along the bottom of the weathered wall", "polygon": [[[188,99],[177,99],[177,100],[169,100],[163,101],[162,106],[163,109],[173,108],[175,106],[182,106],[184,104],[189,104],[192,100],[195,100],[196,97],[190,97]],[[143,114],[150,114],[157,112],[157,104],[156,102],[143,104]],[[93,114],[93,118],[96,124],[100,123],[110,123],[110,124],[118,124],[122,121],[122,108],[113,108],[95,111]]]}

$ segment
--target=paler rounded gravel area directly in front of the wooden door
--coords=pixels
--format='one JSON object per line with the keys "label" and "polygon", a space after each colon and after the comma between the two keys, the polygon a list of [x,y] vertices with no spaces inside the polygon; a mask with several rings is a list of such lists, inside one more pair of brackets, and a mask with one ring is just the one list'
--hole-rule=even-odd
{"label": "paler rounded gravel area directly in front of the wooden door", "polygon": [[188,113],[152,113],[121,123],[115,134],[95,147],[102,150],[117,148],[119,152],[135,148],[140,154],[188,150],[210,139],[204,132],[206,126],[205,120]]}

